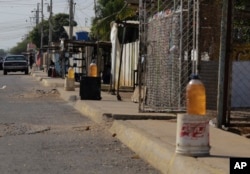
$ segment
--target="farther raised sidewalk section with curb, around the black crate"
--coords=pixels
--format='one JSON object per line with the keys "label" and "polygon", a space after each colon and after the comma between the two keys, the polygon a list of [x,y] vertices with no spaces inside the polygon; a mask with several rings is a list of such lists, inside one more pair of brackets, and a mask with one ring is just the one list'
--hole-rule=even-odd
{"label": "farther raised sidewalk section with curb, around the black crate", "polygon": [[95,122],[101,123],[107,119],[173,119],[173,114],[164,113],[138,113],[138,104],[128,101],[117,101],[117,99],[102,92],[102,100],[80,100],[79,88],[75,91],[65,91],[63,88],[57,88],[60,96],[66,100],[73,102],[73,106],[83,115],[91,116]]}

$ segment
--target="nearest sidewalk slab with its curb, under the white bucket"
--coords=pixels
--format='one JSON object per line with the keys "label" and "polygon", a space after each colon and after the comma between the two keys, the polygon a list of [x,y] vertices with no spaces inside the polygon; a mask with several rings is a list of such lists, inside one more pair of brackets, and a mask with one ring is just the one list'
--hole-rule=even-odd
{"label": "nearest sidewalk slab with its curb, under the white bucket", "polygon": [[210,155],[196,158],[175,153],[174,121],[116,120],[110,132],[162,173],[228,174],[230,157],[250,157],[249,139],[211,126]]}

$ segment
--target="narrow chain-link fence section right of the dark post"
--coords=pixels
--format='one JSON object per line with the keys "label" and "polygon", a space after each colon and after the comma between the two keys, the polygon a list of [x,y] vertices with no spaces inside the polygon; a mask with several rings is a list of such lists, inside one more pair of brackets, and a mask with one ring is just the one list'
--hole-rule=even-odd
{"label": "narrow chain-link fence section right of the dark post", "polygon": [[250,3],[233,3],[232,63],[226,124],[250,127]]}

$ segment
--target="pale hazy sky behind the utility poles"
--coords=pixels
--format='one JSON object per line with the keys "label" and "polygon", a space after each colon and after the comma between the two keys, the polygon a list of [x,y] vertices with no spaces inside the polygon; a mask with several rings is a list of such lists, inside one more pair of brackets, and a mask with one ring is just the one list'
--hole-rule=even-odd
{"label": "pale hazy sky behind the utility poles", "polygon": [[[9,50],[22,42],[25,36],[35,27],[35,11],[39,3],[41,11],[42,0],[0,0],[0,49]],[[49,13],[47,6],[50,0],[43,0],[44,19]],[[91,25],[94,17],[94,0],[74,0],[74,20],[78,26]],[[53,14],[69,14],[69,0],[52,0]],[[39,13],[41,17],[41,12]],[[40,21],[40,19],[39,19]]]}

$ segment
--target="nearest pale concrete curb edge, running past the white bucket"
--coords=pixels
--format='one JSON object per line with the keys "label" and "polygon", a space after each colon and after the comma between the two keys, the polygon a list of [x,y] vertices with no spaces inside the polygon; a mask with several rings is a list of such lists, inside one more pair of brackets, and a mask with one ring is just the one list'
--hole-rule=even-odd
{"label": "nearest pale concrete curb edge, running past the white bucket", "polygon": [[116,120],[109,131],[163,174],[226,174],[222,170],[214,169],[194,157],[176,154],[174,145],[166,144],[145,133],[129,121]]}

